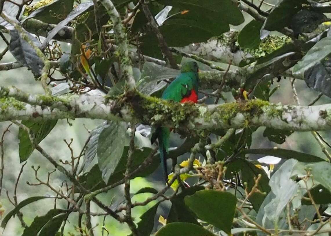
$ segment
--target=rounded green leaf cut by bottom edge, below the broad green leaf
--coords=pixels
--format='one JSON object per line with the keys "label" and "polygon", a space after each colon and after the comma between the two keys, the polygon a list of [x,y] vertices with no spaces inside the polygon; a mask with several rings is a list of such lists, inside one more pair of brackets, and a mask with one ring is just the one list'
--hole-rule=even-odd
{"label": "rounded green leaf cut by bottom edge, below the broad green leaf", "polygon": [[192,223],[170,223],[156,232],[155,236],[216,236],[207,229]]}

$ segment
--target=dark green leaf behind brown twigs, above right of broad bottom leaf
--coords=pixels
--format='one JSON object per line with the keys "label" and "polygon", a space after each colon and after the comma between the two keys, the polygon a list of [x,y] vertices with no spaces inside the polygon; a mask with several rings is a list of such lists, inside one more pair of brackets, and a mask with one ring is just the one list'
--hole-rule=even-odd
{"label": "dark green leaf behind brown twigs, above right of broad bottom leaf", "polygon": [[[238,173],[241,170],[242,181],[247,182],[247,191],[251,191],[253,186],[255,185],[255,180],[258,178],[259,174],[261,175],[261,179],[258,184],[258,189],[261,192],[268,193],[270,192],[269,178],[265,174],[265,172],[258,167],[256,167],[253,163],[249,162],[246,159],[237,159],[233,162],[230,162],[227,165],[227,170],[225,173],[225,177],[227,179],[232,178],[232,175]],[[261,193],[254,192],[249,200],[251,201],[253,208],[256,212],[258,212],[265,195]]]}

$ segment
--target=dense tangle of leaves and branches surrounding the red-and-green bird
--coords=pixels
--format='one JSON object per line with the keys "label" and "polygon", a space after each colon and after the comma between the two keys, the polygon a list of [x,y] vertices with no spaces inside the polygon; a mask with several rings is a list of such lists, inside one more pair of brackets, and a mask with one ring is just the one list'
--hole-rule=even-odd
{"label": "dense tangle of leaves and branches surrounding the red-and-green bird", "polygon": [[[331,97],[325,2],[0,0],[7,45],[0,60],[7,51],[17,60],[1,61],[0,70],[26,67],[44,90],[0,85],[0,122],[11,121],[0,126],[0,195],[12,124],[22,163],[14,197],[7,191],[13,207],[0,208],[1,227],[8,230],[17,216],[22,236],[114,235],[109,220],[125,223],[134,236],[330,234],[331,146],[318,131],[331,129],[331,104],[313,106]],[[200,67],[199,104],[159,99],[188,60]],[[270,103],[286,78],[295,104]],[[296,79],[320,92],[307,107],[300,106]],[[71,155],[47,152],[40,142],[60,119],[69,127],[75,118],[103,121],[79,150],[64,140]],[[161,179],[160,153],[150,142],[160,125],[181,139],[167,155],[169,184],[132,192],[137,177]],[[324,155],[253,149],[259,127],[274,145],[311,131]],[[53,194],[31,190],[18,201],[32,152],[55,169],[43,174],[43,166],[32,166],[35,180],[26,184]],[[52,184],[54,172],[61,185]],[[54,200],[48,212],[26,222],[24,207],[44,208],[47,199]],[[135,218],[139,206],[148,207]]]}

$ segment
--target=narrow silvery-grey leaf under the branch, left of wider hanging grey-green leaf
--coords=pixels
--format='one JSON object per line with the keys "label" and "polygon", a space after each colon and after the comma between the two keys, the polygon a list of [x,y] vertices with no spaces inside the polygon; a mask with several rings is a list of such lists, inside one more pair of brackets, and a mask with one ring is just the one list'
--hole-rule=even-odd
{"label": "narrow silvery-grey leaf under the branch, left of wider hanging grey-green leaf", "polygon": [[81,165],[81,170],[83,171],[83,173],[85,173],[85,171],[88,169],[88,167],[90,167],[91,163],[93,162],[94,157],[97,154],[99,136],[101,132],[107,127],[109,127],[109,124],[107,121],[105,121],[91,131],[90,133],[91,137],[86,145],[84,160]]}

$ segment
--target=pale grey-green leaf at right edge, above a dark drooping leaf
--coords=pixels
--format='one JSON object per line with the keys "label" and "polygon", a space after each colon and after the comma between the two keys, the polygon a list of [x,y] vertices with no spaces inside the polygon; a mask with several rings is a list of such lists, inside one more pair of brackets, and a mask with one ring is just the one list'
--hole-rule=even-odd
{"label": "pale grey-green leaf at right edge, above a dark drooping leaf", "polygon": [[306,55],[293,67],[292,74],[298,79],[305,79],[309,69],[321,62],[331,53],[331,38],[326,37],[317,42]]}

